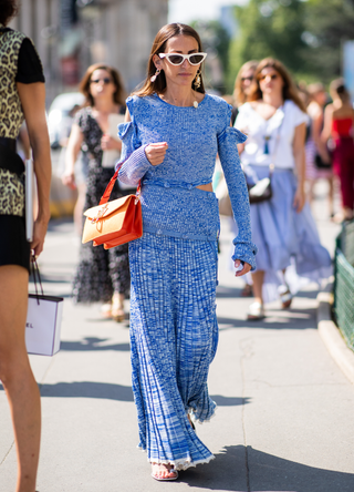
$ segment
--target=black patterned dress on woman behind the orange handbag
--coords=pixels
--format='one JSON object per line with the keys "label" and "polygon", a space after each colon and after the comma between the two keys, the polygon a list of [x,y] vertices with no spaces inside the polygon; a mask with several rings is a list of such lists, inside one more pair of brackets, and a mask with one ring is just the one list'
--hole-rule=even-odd
{"label": "black patterned dress on woman behind the orange handbag", "polygon": [[[80,126],[84,143],[90,153],[87,191],[84,209],[96,206],[103,195],[114,168],[102,167],[103,151],[101,139],[103,132],[92,116],[92,109],[84,107],[75,115],[75,123]],[[127,194],[116,184],[111,199]],[[108,303],[113,293],[126,294],[131,287],[128,260],[128,245],[124,244],[112,249],[103,246],[94,247],[92,243],[82,244],[80,260],[74,277],[73,297],[76,303]]]}

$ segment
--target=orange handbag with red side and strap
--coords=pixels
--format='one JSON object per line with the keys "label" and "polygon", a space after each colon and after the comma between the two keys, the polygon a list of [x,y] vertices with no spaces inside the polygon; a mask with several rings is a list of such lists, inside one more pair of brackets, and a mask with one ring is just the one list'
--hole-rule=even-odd
{"label": "orange handbag with red side and strap", "polygon": [[140,183],[136,195],[108,202],[118,171],[110,181],[100,205],[84,212],[86,221],[82,243],[93,240],[94,246],[103,244],[105,249],[110,249],[143,236]]}

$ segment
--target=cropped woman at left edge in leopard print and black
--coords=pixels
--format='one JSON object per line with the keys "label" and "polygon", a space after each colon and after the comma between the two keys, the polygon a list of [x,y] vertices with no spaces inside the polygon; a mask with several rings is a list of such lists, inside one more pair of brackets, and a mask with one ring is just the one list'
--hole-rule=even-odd
{"label": "cropped woman at left edge in leopard print and black", "polygon": [[[34,492],[40,453],[40,392],[27,355],[30,249],[40,255],[50,219],[51,156],[43,68],[32,41],[6,25],[17,2],[0,1],[0,379],[10,404],[18,458],[17,492]],[[33,148],[38,216],[24,224],[24,165],[15,140],[25,120]]]}

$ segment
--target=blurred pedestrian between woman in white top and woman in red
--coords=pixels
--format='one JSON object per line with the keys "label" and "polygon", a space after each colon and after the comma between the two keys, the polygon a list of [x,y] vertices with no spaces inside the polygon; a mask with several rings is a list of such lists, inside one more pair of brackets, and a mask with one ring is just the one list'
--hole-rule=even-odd
{"label": "blurred pedestrian between woman in white top and woman in red", "polygon": [[308,114],[310,116],[310,134],[305,144],[306,157],[306,181],[309,183],[310,204],[314,199],[313,188],[317,180],[326,180],[329,184],[329,208],[330,216],[333,217],[333,173],[331,156],[326,144],[321,139],[324,124],[324,106],[327,102],[327,94],[321,82],[308,86],[310,103]]}

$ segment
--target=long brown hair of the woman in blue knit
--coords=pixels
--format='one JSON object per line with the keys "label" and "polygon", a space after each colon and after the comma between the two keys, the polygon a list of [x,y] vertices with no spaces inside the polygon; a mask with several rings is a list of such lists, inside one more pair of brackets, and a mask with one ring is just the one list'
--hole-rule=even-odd
{"label": "long brown hair of the woman in blue knit", "polygon": [[[134,94],[144,98],[145,95],[152,95],[154,92],[157,94],[163,94],[166,91],[166,76],[164,73],[164,70],[162,70],[160,74],[156,78],[155,82],[150,81],[150,78],[156,72],[156,66],[153,61],[153,58],[155,54],[164,53],[166,50],[167,41],[171,38],[175,38],[176,35],[190,35],[194,38],[198,43],[198,51],[202,51],[201,49],[201,41],[199,38],[198,32],[192,29],[190,25],[180,24],[180,23],[173,23],[173,24],[166,24],[164,25],[158,33],[156,34],[156,38],[153,43],[152,52],[148,58],[147,62],[147,74],[145,82],[143,82],[143,86],[140,89],[137,89]],[[202,75],[200,74],[200,86],[198,89],[195,89],[191,83],[191,89],[195,89],[197,92],[201,92],[205,94],[206,90],[204,88],[202,82]]]}

